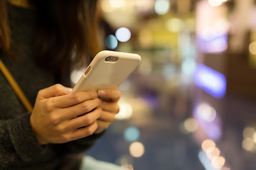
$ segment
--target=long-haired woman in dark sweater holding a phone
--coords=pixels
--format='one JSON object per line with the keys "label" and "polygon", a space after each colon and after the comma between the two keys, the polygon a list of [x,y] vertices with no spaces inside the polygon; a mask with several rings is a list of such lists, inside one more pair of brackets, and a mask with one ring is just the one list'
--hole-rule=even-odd
{"label": "long-haired woman in dark sweater holding a phone", "polygon": [[33,104],[27,113],[0,74],[0,169],[80,169],[80,153],[115,120],[119,91],[65,87],[70,69],[100,51],[96,6],[0,0],[0,58]]}

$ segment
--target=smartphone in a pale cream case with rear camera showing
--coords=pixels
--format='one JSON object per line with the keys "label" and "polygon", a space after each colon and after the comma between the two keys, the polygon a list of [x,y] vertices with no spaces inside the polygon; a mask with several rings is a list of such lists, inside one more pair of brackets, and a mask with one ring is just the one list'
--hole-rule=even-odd
{"label": "smartphone in a pale cream case with rear camera showing", "polygon": [[73,91],[117,89],[141,62],[137,54],[114,51],[99,52],[75,84]]}

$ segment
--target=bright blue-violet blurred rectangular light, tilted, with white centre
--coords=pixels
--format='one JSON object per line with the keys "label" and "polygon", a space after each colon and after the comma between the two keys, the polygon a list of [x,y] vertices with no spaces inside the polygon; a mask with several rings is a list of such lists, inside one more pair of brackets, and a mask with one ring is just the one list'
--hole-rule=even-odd
{"label": "bright blue-violet blurred rectangular light, tilted, with white centre", "polygon": [[194,81],[197,86],[215,98],[223,98],[225,96],[227,86],[225,76],[204,64],[198,64],[194,74]]}

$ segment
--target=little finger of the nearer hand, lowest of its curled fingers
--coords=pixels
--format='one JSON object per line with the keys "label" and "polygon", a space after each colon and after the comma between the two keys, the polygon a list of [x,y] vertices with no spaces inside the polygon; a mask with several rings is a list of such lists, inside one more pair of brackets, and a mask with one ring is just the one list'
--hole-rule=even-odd
{"label": "little finger of the nearer hand, lowest of its curled fingers", "polygon": [[90,136],[95,132],[95,130],[97,130],[96,121],[94,123],[92,123],[91,125],[88,125],[85,128],[75,129],[72,132],[71,140],[78,140],[78,139],[81,139],[83,137]]}

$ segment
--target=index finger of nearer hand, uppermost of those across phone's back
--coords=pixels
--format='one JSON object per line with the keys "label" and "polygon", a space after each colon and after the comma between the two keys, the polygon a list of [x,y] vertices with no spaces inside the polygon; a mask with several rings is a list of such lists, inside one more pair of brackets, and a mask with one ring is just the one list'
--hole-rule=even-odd
{"label": "index finger of nearer hand, uppermost of those across phone's back", "polygon": [[74,94],[50,98],[49,104],[55,108],[68,108],[95,98],[97,98],[97,93],[95,91],[78,91]]}

